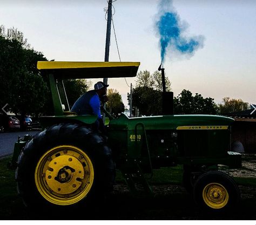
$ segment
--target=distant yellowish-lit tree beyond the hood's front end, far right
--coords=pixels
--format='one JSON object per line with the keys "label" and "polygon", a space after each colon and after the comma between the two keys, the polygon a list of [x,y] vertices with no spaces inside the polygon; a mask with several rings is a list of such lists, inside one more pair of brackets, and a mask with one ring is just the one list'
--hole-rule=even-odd
{"label": "distant yellowish-lit tree beyond the hood's front end, far right", "polygon": [[241,99],[231,99],[230,97],[223,98],[223,104],[219,104],[220,114],[240,112],[250,109],[248,103]]}

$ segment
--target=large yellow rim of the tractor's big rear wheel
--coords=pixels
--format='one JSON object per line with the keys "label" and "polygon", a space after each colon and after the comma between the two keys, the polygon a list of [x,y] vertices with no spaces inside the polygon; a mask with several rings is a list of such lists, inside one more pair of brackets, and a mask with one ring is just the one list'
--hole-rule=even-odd
{"label": "large yellow rim of the tractor's big rear wheel", "polygon": [[94,169],[80,148],[61,145],[51,148],[38,161],[35,182],[38,192],[49,202],[69,205],[90,192]]}

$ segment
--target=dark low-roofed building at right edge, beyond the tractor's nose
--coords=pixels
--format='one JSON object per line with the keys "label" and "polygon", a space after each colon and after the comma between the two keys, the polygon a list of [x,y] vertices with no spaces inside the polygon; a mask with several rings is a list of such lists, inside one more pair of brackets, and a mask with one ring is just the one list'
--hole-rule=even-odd
{"label": "dark low-roofed building at right edge, beyond the tractor's nose", "polygon": [[226,114],[235,121],[231,131],[231,147],[238,152],[256,153],[256,105],[250,110]]}

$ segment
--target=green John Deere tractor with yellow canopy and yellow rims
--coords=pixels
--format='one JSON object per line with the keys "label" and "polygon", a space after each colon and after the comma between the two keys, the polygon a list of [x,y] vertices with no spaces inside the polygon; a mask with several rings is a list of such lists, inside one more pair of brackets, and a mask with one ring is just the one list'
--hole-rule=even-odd
{"label": "green John Deere tractor with yellow canopy and yellow rims", "polygon": [[[184,187],[199,206],[221,212],[238,202],[238,186],[218,171],[218,165],[241,167],[241,155],[230,152],[233,119],[171,112],[112,118],[106,113],[110,121],[105,137],[93,129],[97,116],[70,112],[63,79],[135,77],[139,64],[38,62],[42,75],[49,77],[55,115],[41,117],[43,131],[15,144],[12,164],[17,165],[17,189],[27,206],[86,204],[111,190],[116,169],[133,193],[137,183],[152,193],[147,174],[177,165],[183,165]],[[172,94],[163,99],[168,96]]]}

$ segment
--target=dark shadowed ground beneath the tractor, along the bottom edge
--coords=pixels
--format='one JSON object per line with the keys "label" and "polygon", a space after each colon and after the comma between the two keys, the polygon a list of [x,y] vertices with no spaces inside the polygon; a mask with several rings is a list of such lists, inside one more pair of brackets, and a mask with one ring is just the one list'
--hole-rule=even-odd
{"label": "dark shadowed ground beneath the tractor, along the bottom edge", "polygon": [[132,196],[124,187],[117,185],[114,194],[90,205],[70,208],[42,208],[29,210],[21,204],[18,212],[12,212],[7,220],[255,220],[254,194],[246,197],[247,188],[240,187],[242,199],[232,212],[225,214],[205,213],[194,203],[192,196],[177,185],[153,186],[154,197]]}

